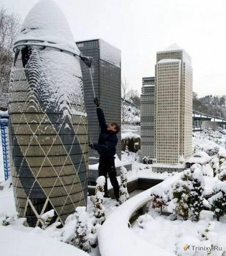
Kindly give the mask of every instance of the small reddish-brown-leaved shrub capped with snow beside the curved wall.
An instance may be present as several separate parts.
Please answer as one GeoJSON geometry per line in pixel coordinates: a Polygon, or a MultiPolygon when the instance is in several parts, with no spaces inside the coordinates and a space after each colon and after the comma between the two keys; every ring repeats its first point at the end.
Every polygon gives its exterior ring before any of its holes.
{"type": "Polygon", "coordinates": [[[151,203],[153,209],[160,208],[160,213],[162,214],[162,209],[167,206],[168,197],[162,187],[156,187],[152,189],[151,196],[154,197],[151,203]]]}

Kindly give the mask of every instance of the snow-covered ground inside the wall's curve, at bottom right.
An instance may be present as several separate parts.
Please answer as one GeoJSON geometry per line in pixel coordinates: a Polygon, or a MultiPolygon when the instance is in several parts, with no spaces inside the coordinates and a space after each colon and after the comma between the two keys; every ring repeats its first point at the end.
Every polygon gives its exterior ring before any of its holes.
{"type": "MultiPolygon", "coordinates": [[[[196,252],[192,250],[193,246],[217,245],[222,247],[222,251],[212,252],[212,256],[221,256],[226,250],[226,218],[221,222],[213,220],[213,213],[210,211],[201,211],[200,221],[192,222],[190,220],[171,221],[169,217],[151,216],[146,214],[142,216],[142,227],[138,225],[138,221],[134,222],[133,230],[144,240],[160,248],[167,249],[169,253],[176,252],[176,255],[197,255],[206,256],[207,252],[196,252]],[[208,240],[202,237],[205,234],[208,240]],[[158,235],[157,235],[158,234],[158,235]],[[187,251],[184,251],[184,245],[190,245],[187,251]]],[[[141,218],[141,217],[140,217],[141,218]]]]}

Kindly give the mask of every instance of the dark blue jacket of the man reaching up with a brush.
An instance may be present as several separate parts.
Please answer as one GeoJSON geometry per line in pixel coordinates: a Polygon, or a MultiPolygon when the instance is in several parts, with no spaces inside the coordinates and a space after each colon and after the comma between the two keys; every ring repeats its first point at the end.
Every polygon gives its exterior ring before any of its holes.
{"type": "Polygon", "coordinates": [[[107,130],[108,125],[106,124],[104,113],[101,108],[97,108],[97,117],[101,128],[101,134],[98,139],[98,144],[94,143],[94,148],[101,156],[113,157],[116,154],[118,138],[115,132],[107,130]]]}

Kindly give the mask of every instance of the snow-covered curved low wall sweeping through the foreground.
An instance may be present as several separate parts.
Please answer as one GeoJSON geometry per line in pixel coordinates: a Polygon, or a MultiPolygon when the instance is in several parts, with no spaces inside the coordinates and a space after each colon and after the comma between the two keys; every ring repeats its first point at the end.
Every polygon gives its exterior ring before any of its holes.
{"type": "MultiPolygon", "coordinates": [[[[152,198],[151,190],[155,187],[167,188],[181,176],[181,173],[161,182],[154,187],[132,197],[118,207],[106,221],[98,232],[98,244],[101,256],[173,256],[174,254],[151,244],[137,236],[129,228],[129,219],[132,214],[148,203],[152,198]]],[[[164,243],[164,241],[163,241],[164,243]]]]}

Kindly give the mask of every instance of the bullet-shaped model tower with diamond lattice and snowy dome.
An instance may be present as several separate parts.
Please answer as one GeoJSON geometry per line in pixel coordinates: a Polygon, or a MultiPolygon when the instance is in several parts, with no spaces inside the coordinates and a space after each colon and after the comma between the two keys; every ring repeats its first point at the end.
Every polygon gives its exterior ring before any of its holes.
{"type": "Polygon", "coordinates": [[[10,78],[11,173],[16,210],[30,226],[54,209],[62,224],[86,205],[87,115],[80,52],[59,7],[41,0],[14,44],[10,78]]]}

